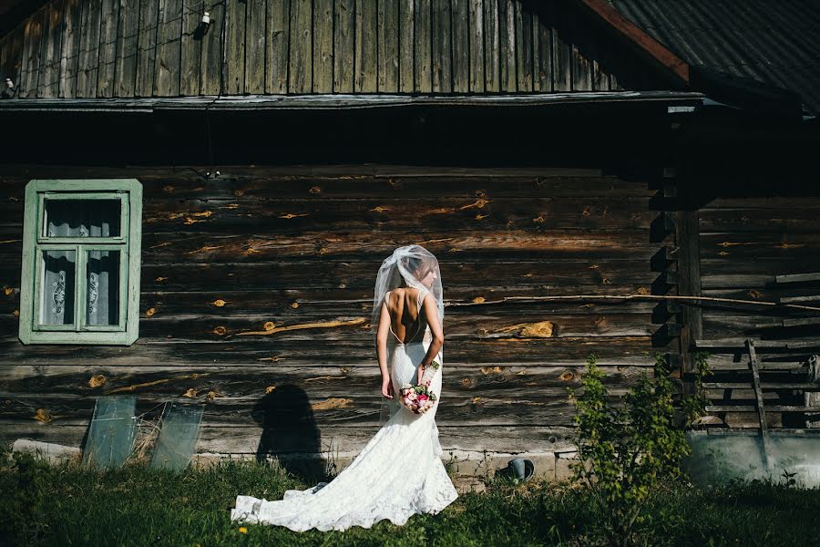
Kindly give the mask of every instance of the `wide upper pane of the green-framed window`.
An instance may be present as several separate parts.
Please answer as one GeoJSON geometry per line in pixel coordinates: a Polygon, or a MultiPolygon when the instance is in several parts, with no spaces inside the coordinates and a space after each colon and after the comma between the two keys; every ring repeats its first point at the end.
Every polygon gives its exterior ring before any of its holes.
{"type": "Polygon", "coordinates": [[[46,200],[46,237],[117,237],[119,200],[46,200]]]}

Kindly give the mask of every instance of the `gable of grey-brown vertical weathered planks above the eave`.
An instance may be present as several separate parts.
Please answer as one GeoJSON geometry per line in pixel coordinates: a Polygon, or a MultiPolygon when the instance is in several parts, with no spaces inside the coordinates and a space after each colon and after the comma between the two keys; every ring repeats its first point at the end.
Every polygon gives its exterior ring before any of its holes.
{"type": "Polygon", "coordinates": [[[561,1],[52,0],[0,38],[20,98],[669,88],[561,1]]]}

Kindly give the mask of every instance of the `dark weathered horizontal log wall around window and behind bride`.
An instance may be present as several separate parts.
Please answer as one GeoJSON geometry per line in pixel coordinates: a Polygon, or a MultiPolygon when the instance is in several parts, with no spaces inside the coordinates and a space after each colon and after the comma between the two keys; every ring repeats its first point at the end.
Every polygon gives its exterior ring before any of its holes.
{"type": "MultiPolygon", "coordinates": [[[[37,169],[31,177],[47,176],[37,169]]],[[[147,416],[168,400],[206,405],[199,452],[253,453],[279,390],[303,393],[302,418],[322,439],[304,447],[282,434],[279,452],[360,449],[380,405],[367,325],[374,274],[405,243],[424,244],[442,265],[436,419],[446,449],[568,449],[567,387],[579,386],[590,353],[617,395],[650,369],[645,352],[667,351],[651,346],[651,303],[516,300],[649,294],[659,244],[646,180],[372,166],[238,167],[218,180],[171,168],[60,172],[143,183],[140,337],[129,347],[20,344],[27,179],[0,178],[0,433],[9,439],[78,446],[95,397],[133,394],[147,416]]]]}

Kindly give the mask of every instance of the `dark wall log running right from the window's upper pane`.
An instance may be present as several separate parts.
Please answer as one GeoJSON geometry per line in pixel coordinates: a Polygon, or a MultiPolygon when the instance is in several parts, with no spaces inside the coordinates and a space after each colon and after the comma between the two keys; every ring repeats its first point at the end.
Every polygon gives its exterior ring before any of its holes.
{"type": "Polygon", "coordinates": [[[294,232],[390,230],[491,232],[520,230],[623,230],[646,234],[651,212],[635,200],[449,199],[420,198],[407,207],[402,199],[280,201],[144,201],[145,232],[237,233],[251,229],[294,232]],[[341,226],[340,226],[341,223],[341,226]]]}

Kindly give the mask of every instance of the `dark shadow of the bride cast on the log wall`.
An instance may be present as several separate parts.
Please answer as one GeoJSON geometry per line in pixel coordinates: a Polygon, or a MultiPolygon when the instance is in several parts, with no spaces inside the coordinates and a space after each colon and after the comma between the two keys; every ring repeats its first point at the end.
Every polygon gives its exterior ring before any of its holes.
{"type": "Polygon", "coordinates": [[[254,405],[251,416],[262,427],[257,461],[272,456],[285,470],[309,483],[325,479],[325,464],[319,457],[322,436],[300,387],[276,387],[254,405]]]}

